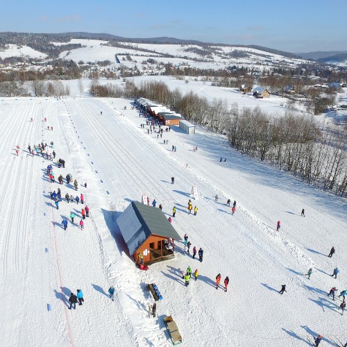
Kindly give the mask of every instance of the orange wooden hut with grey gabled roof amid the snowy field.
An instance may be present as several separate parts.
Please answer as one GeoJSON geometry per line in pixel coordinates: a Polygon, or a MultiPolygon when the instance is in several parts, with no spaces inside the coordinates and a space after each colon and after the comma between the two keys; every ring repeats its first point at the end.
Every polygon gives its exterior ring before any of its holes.
{"type": "Polygon", "coordinates": [[[139,267],[174,257],[174,240],[182,239],[160,208],[139,201],[132,201],[117,223],[139,267]]]}

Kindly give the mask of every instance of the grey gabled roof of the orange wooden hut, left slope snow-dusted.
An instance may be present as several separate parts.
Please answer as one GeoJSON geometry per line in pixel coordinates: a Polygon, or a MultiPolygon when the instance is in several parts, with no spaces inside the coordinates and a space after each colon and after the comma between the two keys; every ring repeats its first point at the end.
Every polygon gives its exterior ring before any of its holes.
{"type": "Polygon", "coordinates": [[[139,201],[132,201],[117,218],[117,223],[130,255],[151,235],[181,239],[160,208],[153,208],[139,201]]]}

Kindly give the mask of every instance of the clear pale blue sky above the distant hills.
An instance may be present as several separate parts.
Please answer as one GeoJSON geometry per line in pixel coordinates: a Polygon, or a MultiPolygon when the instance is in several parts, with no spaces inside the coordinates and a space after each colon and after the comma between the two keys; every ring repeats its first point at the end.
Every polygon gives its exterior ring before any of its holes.
{"type": "Polygon", "coordinates": [[[290,52],[347,51],[347,1],[3,1],[0,31],[85,31],[258,44],[290,52]]]}

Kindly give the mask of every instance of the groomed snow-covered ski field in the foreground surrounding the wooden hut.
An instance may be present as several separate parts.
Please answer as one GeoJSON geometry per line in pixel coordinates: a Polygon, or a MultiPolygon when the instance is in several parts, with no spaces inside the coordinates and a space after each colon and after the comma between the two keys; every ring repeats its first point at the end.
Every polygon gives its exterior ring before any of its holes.
{"type": "Polygon", "coordinates": [[[225,137],[173,127],[164,145],[143,123],[124,99],[0,100],[1,345],[171,346],[163,323],[169,314],[187,346],[310,346],[318,334],[321,346],[345,343],[341,301],[326,294],[334,285],[347,289],[346,201],[240,155],[225,137]],[[78,192],[49,183],[49,162],[28,154],[28,144],[42,141],[53,141],[57,158],[65,159],[65,169],[53,167],[56,178],[70,172],[78,192]],[[192,185],[196,217],[187,214],[192,185]],[[83,192],[91,211],[84,230],[76,224],[81,204],[63,198],[56,210],[49,192],[58,187],[62,196],[83,192]],[[136,268],[116,219],[143,193],[162,203],[167,217],[176,205],[173,226],[203,248],[202,263],[184,255],[179,242],[174,260],[136,268]],[[228,198],[237,201],[234,215],[228,198]],[[64,231],[60,223],[71,212],[75,224],[64,231]],[[187,266],[199,271],[189,287],[180,276],[187,266]],[[215,289],[217,273],[222,282],[229,276],[227,293],[215,289]],[[152,282],[164,297],[155,319],[147,312],[152,282]],[[67,310],[76,289],[85,303],[67,310]]]}

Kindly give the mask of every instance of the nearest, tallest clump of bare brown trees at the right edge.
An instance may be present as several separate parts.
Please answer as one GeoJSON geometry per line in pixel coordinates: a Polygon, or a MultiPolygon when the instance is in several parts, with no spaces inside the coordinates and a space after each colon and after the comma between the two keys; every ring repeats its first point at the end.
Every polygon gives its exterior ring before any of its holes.
{"type": "Polygon", "coordinates": [[[233,107],[228,128],[230,144],[251,157],[266,160],[305,182],[347,193],[347,124],[319,128],[313,117],[271,118],[259,108],[233,107]]]}

